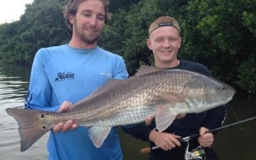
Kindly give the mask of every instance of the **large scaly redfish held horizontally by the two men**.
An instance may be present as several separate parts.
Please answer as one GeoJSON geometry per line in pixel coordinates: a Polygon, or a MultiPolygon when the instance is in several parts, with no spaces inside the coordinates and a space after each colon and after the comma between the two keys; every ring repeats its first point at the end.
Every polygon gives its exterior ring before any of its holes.
{"type": "Polygon", "coordinates": [[[187,70],[141,67],[128,80],[111,80],[68,111],[52,113],[8,108],[19,124],[20,150],[28,149],[60,122],[74,120],[90,127],[89,136],[100,147],[111,127],[136,124],[156,116],[164,131],[180,113],[200,113],[226,104],[235,93],[228,84],[187,70]]]}

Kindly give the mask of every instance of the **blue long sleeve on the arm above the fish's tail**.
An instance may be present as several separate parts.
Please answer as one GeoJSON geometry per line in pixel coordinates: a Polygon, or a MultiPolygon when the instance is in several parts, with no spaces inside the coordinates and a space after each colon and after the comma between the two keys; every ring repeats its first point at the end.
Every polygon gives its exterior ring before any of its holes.
{"type": "Polygon", "coordinates": [[[60,106],[51,106],[52,86],[45,70],[43,53],[39,50],[33,61],[25,108],[56,112],[60,106]]]}

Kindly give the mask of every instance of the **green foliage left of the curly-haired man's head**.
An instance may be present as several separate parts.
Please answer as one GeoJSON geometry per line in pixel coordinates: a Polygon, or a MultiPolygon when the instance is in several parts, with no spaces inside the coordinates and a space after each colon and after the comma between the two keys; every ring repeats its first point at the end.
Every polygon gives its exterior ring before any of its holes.
{"type": "Polygon", "coordinates": [[[1,25],[0,60],[31,64],[41,47],[60,45],[70,38],[60,0],[35,0],[26,6],[20,20],[1,25]],[[3,38],[2,38],[3,37],[3,38]]]}

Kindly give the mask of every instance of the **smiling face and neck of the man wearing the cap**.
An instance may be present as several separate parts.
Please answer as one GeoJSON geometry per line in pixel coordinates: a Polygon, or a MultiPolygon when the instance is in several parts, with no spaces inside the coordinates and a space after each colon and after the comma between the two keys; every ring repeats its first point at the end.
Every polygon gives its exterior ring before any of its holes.
{"type": "Polygon", "coordinates": [[[147,40],[148,48],[154,54],[157,67],[175,67],[180,44],[179,31],[172,26],[155,29],[147,40]]]}

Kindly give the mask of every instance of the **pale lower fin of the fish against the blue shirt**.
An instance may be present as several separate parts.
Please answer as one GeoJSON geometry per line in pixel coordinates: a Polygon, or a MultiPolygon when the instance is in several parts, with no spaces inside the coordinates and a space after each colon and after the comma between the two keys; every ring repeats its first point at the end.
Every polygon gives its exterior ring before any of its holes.
{"type": "Polygon", "coordinates": [[[110,131],[111,127],[91,127],[89,129],[89,136],[95,147],[99,148],[102,145],[110,131]]]}

